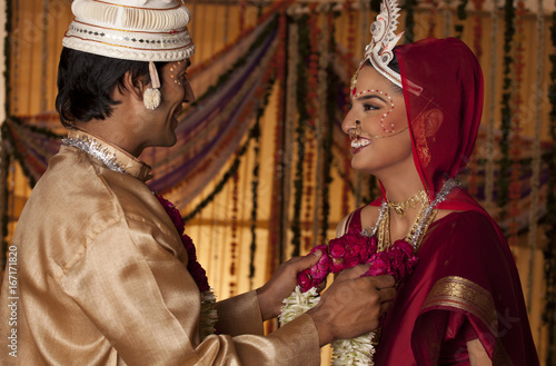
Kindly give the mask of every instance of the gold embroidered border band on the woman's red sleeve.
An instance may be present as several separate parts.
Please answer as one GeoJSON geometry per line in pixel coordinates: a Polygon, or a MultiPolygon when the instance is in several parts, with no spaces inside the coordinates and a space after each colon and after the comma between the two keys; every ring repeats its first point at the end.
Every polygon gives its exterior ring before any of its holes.
{"type": "Polygon", "coordinates": [[[496,336],[498,319],[493,296],[479,285],[458,276],[444,277],[430,289],[421,310],[433,306],[449,306],[469,311],[496,336]]]}

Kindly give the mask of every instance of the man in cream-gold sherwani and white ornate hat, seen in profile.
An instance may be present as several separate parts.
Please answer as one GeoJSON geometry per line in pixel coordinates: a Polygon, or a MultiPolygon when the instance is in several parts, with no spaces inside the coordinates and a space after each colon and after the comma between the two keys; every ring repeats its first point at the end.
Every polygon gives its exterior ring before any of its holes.
{"type": "Polygon", "coordinates": [[[279,314],[317,253],[218,303],[217,334],[201,337],[206,278],[188,270],[195,251],[138,159],[146,147],[176,142],[177,116],[195,99],[191,14],[177,0],[75,0],[72,11],[56,100],[69,133],[10,247],[17,260],[14,275],[3,276],[1,364],[319,365],[320,346],[375,329],[394,279],[359,278],[367,268],[356,267],[317,307],[264,336],[262,322],[279,314]]]}

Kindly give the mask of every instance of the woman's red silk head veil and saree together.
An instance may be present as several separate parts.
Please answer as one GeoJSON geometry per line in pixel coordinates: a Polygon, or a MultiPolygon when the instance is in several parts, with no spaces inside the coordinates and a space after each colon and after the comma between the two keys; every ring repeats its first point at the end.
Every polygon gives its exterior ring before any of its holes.
{"type": "MultiPolygon", "coordinates": [[[[415,166],[433,200],[471,156],[483,111],[483,73],[469,48],[455,38],[425,39],[394,51],[415,166]],[[408,91],[408,86],[415,85],[423,88],[419,95],[408,91]],[[421,116],[431,108],[439,109],[444,118],[439,128],[428,133],[421,116]]],[[[384,187],[383,197],[371,205],[379,206],[383,199],[384,187]]],[[[430,235],[430,228],[425,236],[416,273],[400,287],[384,323],[377,365],[436,365],[454,329],[461,330],[453,335],[460,337],[460,344],[469,336],[478,337],[495,365],[538,365],[519,276],[498,225],[459,188],[437,208],[466,215],[457,220],[453,217],[451,226],[436,225],[435,233],[439,233],[430,235]],[[455,288],[466,296],[479,291],[489,300],[477,307],[464,306],[455,288]],[[408,314],[414,316],[407,318],[408,314]],[[400,336],[405,333],[410,337],[400,336]]]]}

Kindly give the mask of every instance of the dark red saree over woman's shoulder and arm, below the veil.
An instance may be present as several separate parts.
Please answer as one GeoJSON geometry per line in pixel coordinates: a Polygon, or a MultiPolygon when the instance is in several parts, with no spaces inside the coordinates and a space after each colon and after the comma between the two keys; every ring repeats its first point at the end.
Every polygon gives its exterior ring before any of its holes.
{"type": "MultiPolygon", "coordinates": [[[[359,209],[348,231],[360,230],[359,209]]],[[[484,215],[435,221],[417,255],[383,324],[376,365],[469,365],[466,343],[477,337],[494,365],[538,365],[515,266],[484,215]]]]}

